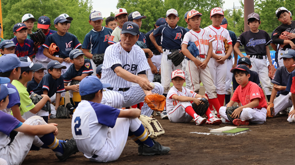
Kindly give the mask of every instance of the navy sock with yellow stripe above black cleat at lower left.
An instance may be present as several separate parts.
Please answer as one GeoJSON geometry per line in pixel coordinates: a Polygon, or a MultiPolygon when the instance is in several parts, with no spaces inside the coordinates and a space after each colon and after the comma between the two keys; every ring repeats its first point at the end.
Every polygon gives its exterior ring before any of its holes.
{"type": "Polygon", "coordinates": [[[53,135],[53,133],[44,135],[40,138],[40,140],[57,154],[63,154],[62,145],[59,140],[53,135]]]}

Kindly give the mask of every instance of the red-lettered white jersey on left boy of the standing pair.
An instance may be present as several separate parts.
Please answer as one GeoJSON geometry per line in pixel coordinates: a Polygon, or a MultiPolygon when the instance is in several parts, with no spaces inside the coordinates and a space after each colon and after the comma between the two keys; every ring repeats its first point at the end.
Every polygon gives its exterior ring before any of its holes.
{"type": "MultiPolygon", "coordinates": [[[[194,42],[202,55],[208,54],[209,42],[214,41],[213,36],[209,37],[206,30],[202,29],[198,32],[190,30],[185,33],[182,44],[188,45],[188,42],[194,42]]],[[[182,45],[181,44],[181,45],[182,45]]]]}

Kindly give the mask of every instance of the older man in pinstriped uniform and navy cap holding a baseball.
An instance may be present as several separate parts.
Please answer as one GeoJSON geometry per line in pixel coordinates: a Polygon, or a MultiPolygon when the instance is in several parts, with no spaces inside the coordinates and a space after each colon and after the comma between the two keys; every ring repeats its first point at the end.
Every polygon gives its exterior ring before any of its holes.
{"type": "MultiPolygon", "coordinates": [[[[160,83],[149,84],[146,71],[149,70],[145,52],[137,45],[139,27],[133,22],[123,24],[120,42],[107,47],[101,72],[101,82],[111,84],[105,88],[101,103],[115,108],[129,107],[143,102],[146,95],[163,94],[160,83]]],[[[152,110],[147,104],[142,114],[150,116],[152,110]]]]}

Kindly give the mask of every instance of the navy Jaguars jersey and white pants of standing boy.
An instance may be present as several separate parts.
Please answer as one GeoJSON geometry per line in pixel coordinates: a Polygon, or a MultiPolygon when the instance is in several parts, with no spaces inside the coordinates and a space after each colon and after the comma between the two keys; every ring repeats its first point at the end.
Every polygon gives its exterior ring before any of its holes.
{"type": "MultiPolygon", "coordinates": [[[[266,95],[271,94],[272,85],[268,78],[268,68],[266,66],[266,46],[271,43],[269,35],[264,30],[260,30],[257,33],[251,32],[251,30],[243,32],[237,39],[240,45],[245,47],[245,52],[250,55],[251,71],[258,73],[259,79],[263,86],[266,95]]],[[[270,61],[271,62],[271,61],[270,61]]]]}

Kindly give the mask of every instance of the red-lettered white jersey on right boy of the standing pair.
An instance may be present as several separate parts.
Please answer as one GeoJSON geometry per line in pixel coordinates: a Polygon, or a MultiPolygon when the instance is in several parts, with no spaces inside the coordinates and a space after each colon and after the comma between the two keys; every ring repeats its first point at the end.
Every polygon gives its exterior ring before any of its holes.
{"type": "Polygon", "coordinates": [[[222,51],[222,54],[225,54],[225,48],[224,48],[224,39],[228,40],[228,43],[231,44],[232,39],[230,37],[229,31],[227,29],[223,28],[220,26],[220,28],[216,28],[212,25],[209,25],[204,28],[209,37],[214,37],[215,40],[212,42],[213,46],[213,52],[217,51],[222,51]]]}

